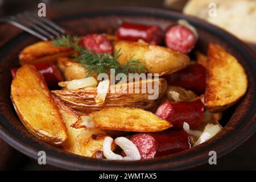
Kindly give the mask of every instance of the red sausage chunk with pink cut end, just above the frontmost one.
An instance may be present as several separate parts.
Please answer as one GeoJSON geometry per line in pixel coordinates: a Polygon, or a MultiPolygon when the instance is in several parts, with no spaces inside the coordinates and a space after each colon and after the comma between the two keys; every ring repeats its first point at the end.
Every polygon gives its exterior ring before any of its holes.
{"type": "Polygon", "coordinates": [[[193,102],[165,101],[158,107],[155,114],[159,118],[170,121],[174,129],[183,129],[184,122],[187,122],[191,129],[199,129],[203,121],[204,104],[201,100],[193,102]]]}

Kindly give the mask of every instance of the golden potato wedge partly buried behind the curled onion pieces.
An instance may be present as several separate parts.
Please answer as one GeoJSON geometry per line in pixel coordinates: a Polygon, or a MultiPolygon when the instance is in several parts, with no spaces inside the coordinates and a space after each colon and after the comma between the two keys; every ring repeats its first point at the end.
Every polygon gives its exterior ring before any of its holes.
{"type": "Polygon", "coordinates": [[[106,132],[104,130],[75,129],[71,127],[73,123],[81,119],[80,115],[57,97],[52,96],[52,98],[63,117],[68,131],[68,140],[64,144],[63,150],[86,157],[95,156],[94,153],[102,151],[104,139],[108,136],[106,132]]]}

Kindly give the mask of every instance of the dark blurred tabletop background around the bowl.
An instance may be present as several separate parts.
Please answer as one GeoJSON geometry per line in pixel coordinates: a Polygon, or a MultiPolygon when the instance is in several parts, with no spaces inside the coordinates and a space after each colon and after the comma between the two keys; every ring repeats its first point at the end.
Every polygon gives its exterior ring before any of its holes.
{"type": "MultiPolygon", "coordinates": [[[[168,1],[168,0],[167,0],[168,1]]],[[[44,0],[44,1],[18,1],[18,0],[0,0],[0,18],[2,16],[18,13],[23,10],[34,10],[39,2],[47,4],[47,16],[55,18],[63,14],[72,14],[90,9],[93,7],[115,7],[115,6],[147,6],[181,11],[186,0],[173,0],[171,5],[162,0],[44,0]]],[[[170,2],[170,1],[168,1],[170,2]]],[[[20,34],[18,28],[9,24],[0,23],[0,48],[15,35],[20,34]],[[8,34],[6,34],[8,32],[8,34]]],[[[251,45],[249,45],[251,46],[251,45]]],[[[251,46],[256,52],[256,46],[251,46]]],[[[195,170],[256,170],[256,134],[243,143],[236,150],[222,156],[217,160],[217,165],[204,164],[195,170]]],[[[21,169],[21,170],[58,170],[59,168],[42,165],[35,160],[21,154],[9,144],[0,139],[0,169],[21,169]]]]}

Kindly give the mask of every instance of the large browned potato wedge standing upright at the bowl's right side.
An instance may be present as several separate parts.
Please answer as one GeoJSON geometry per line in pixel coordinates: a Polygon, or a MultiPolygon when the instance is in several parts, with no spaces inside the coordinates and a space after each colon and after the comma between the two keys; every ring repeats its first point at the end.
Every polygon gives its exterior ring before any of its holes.
{"type": "Polygon", "coordinates": [[[216,44],[209,45],[207,59],[205,106],[220,112],[245,94],[247,76],[237,59],[216,44]]]}

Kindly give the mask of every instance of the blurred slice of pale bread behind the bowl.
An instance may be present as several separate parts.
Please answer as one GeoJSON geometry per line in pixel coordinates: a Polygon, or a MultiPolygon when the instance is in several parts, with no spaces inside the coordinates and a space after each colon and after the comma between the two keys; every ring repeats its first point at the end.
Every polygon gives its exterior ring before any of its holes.
{"type": "Polygon", "coordinates": [[[203,18],[248,43],[256,44],[255,0],[190,0],[183,13],[203,18]],[[216,16],[209,16],[213,8],[210,3],[216,3],[216,16]]]}

